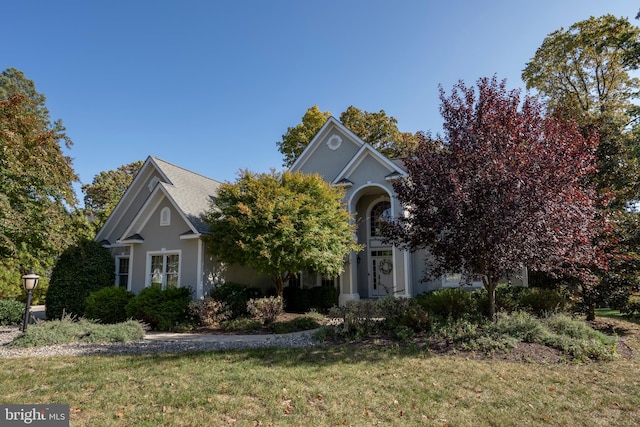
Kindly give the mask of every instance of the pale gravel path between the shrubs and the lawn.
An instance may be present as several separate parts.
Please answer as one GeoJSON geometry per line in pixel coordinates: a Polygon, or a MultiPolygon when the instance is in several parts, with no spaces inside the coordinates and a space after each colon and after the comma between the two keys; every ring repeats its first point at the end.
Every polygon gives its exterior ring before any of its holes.
{"type": "Polygon", "coordinates": [[[19,327],[0,327],[0,358],[126,355],[211,351],[259,347],[307,347],[319,344],[314,331],[282,335],[207,335],[149,333],[142,341],[109,344],[61,344],[32,348],[16,348],[8,344],[18,337],[19,327]]]}

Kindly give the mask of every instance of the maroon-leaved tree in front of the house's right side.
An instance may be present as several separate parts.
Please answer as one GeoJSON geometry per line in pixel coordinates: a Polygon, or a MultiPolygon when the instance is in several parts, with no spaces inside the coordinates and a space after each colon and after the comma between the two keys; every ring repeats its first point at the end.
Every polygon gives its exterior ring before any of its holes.
{"type": "Polygon", "coordinates": [[[478,80],[477,92],[459,82],[446,97],[441,87],[440,100],[444,138],[422,135],[406,158],[408,176],[394,187],[407,212],[389,238],[429,250],[426,276],[480,276],[491,316],[498,281],[525,266],[594,284],[591,268],[606,267],[594,243],[606,221],[585,185],[597,138],[495,76],[478,80]]]}

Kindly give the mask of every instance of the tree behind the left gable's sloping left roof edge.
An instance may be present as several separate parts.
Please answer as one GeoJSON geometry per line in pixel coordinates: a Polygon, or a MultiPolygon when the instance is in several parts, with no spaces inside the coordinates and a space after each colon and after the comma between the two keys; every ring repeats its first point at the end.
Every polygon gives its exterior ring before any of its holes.
{"type": "Polygon", "coordinates": [[[92,226],[95,230],[104,225],[143,163],[139,160],[115,170],[102,171],[93,177],[91,184],[82,186],[84,208],[94,218],[92,226]]]}

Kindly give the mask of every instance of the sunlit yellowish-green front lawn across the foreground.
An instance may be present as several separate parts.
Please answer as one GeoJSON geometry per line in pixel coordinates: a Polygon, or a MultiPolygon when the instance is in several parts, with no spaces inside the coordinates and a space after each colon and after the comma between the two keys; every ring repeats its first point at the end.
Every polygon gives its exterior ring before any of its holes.
{"type": "Polygon", "coordinates": [[[72,426],[640,425],[631,358],[512,363],[397,347],[0,359],[2,403],[66,403],[72,426]]]}

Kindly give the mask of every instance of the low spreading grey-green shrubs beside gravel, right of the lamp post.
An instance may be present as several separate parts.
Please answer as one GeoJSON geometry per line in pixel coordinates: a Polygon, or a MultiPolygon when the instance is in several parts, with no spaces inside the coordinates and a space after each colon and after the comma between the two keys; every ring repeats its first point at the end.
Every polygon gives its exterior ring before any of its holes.
{"type": "Polygon", "coordinates": [[[144,338],[140,322],[128,320],[113,325],[101,325],[87,319],[64,316],[58,320],[37,322],[11,343],[16,347],[38,347],[69,343],[115,343],[139,341],[144,338]]]}

